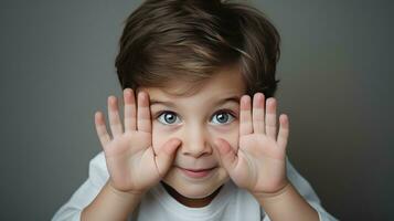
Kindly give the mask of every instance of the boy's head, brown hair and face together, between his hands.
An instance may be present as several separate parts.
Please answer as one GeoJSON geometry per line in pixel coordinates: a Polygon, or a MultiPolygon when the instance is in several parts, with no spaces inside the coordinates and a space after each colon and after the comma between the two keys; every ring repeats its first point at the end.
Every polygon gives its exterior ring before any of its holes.
{"type": "Polygon", "coordinates": [[[172,137],[182,140],[163,179],[179,198],[210,200],[228,179],[213,156],[214,140],[237,148],[239,98],[274,96],[278,57],[276,29],[244,4],[148,0],[127,19],[118,77],[123,88],[149,94],[156,152],[172,137]]]}

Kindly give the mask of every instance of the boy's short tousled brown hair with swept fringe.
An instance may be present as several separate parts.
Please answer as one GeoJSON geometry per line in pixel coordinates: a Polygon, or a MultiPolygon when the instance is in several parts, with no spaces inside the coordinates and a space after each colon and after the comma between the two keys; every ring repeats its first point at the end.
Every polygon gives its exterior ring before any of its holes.
{"type": "Polygon", "coordinates": [[[125,21],[116,69],[123,88],[201,83],[237,65],[247,94],[274,96],[280,36],[262,11],[225,0],[146,0],[125,21]]]}

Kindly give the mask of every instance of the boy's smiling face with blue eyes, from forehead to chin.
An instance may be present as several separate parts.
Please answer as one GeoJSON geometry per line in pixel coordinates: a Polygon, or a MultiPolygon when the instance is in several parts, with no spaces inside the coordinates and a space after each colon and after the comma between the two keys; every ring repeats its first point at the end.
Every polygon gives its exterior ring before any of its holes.
{"type": "MultiPolygon", "coordinates": [[[[166,90],[184,83],[172,85],[166,90]]],[[[234,149],[238,144],[239,98],[246,92],[238,69],[221,70],[189,96],[170,95],[158,87],[141,90],[150,96],[155,151],[170,138],[182,140],[163,181],[187,198],[212,194],[228,179],[213,154],[214,140],[223,138],[234,149]]]]}

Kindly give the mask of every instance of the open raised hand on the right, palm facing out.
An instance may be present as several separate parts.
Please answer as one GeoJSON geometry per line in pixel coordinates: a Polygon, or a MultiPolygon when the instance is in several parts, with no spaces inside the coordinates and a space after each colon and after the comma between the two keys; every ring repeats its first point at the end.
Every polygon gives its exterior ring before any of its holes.
{"type": "Polygon", "coordinates": [[[289,120],[285,114],[279,117],[277,136],[276,99],[266,102],[265,105],[264,94],[256,93],[252,109],[251,97],[244,95],[241,98],[238,148],[221,138],[214,148],[232,180],[258,196],[277,193],[289,183],[286,177],[289,120]]]}

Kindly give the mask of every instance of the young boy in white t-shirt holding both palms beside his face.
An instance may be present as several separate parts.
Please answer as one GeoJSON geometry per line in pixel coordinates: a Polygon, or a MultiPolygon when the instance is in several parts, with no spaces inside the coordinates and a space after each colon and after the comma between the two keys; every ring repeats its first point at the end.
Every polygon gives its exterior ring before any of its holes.
{"type": "Polygon", "coordinates": [[[97,112],[104,151],[53,220],[336,220],[286,158],[278,57],[277,30],[252,7],[145,1],[116,59],[124,120],[109,96],[113,136],[97,112]]]}

